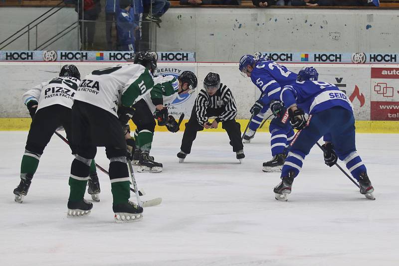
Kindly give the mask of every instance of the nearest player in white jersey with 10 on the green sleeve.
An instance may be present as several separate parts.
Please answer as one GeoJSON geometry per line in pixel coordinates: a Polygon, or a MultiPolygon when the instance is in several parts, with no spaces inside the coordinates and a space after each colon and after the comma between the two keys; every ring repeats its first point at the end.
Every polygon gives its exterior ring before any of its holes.
{"type": "Polygon", "coordinates": [[[154,86],[149,70],[154,61],[155,57],[149,55],[146,67],[140,64],[118,65],[95,70],[82,80],[72,106],[72,131],[77,154],[69,177],[67,216],[81,217],[90,213],[93,205],[83,198],[84,189],[97,147],[105,146],[110,160],[115,221],[133,222],[143,217],[143,208],[129,201],[130,175],[124,126],[134,114],[130,107],[154,86]]]}

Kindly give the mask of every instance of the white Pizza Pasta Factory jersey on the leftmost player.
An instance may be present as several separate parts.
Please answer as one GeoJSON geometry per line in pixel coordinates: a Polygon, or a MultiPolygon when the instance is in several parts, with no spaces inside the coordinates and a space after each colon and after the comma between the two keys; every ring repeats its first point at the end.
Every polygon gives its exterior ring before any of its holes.
{"type": "Polygon", "coordinates": [[[38,103],[37,110],[51,105],[72,108],[73,97],[80,80],[72,77],[56,77],[40,83],[22,95],[25,105],[30,101],[38,103]]]}

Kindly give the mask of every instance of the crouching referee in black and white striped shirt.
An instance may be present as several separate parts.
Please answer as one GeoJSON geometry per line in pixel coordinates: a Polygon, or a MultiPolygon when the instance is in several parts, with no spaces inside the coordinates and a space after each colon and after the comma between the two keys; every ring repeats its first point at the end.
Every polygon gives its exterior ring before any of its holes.
{"type": "Polygon", "coordinates": [[[196,139],[197,132],[205,129],[217,129],[221,122],[230,138],[230,145],[236,153],[236,158],[241,160],[245,157],[241,142],[240,124],[235,121],[237,107],[233,94],[226,85],[220,83],[219,74],[209,72],[204,81],[203,89],[196,99],[191,118],[186,123],[183,134],[181,151],[177,154],[179,162],[183,162],[187,154],[191,152],[191,146],[196,139]],[[209,117],[216,117],[212,123],[208,122],[209,117]]]}

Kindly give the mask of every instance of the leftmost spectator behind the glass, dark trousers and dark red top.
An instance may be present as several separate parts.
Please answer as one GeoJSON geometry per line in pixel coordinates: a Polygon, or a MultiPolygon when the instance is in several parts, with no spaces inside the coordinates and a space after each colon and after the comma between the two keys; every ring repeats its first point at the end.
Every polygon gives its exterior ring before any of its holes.
{"type": "Polygon", "coordinates": [[[75,0],[75,11],[78,12],[80,31],[80,50],[94,49],[94,33],[96,31],[96,23],[98,14],[101,12],[100,0],[75,0]]]}

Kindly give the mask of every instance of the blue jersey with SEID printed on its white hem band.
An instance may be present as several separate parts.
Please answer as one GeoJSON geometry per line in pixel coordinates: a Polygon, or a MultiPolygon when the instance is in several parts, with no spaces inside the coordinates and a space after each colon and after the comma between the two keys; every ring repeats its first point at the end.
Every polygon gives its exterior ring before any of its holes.
{"type": "Polygon", "coordinates": [[[323,81],[297,81],[285,86],[280,100],[286,108],[297,104],[305,113],[319,113],[334,106],[353,112],[352,103],[335,85],[323,81]]]}

